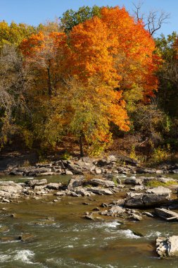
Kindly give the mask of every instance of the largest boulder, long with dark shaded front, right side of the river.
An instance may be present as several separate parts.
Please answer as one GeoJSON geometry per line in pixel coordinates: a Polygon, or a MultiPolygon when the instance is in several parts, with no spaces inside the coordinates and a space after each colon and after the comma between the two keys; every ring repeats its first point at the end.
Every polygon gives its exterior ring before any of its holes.
{"type": "Polygon", "coordinates": [[[170,200],[170,193],[127,193],[125,207],[157,207],[170,200]]]}

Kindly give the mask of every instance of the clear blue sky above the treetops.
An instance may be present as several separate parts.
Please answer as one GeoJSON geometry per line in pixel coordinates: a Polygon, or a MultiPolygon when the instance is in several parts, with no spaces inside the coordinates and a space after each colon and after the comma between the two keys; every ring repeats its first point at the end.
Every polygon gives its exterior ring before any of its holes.
{"type": "MultiPolygon", "coordinates": [[[[62,16],[63,12],[72,8],[77,10],[80,6],[125,6],[132,13],[132,2],[137,0],[0,0],[0,20],[8,23],[27,23],[38,25],[46,20],[54,20],[62,16]]],[[[173,31],[178,33],[178,1],[177,0],[144,0],[144,13],[150,10],[165,11],[170,13],[169,23],[163,25],[160,34],[169,35],[173,31]]]]}

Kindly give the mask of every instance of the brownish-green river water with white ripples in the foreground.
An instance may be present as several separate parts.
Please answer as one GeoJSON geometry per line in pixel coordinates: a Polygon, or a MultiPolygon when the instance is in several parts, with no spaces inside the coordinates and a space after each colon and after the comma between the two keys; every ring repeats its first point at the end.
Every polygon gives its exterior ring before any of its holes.
{"type": "MultiPolygon", "coordinates": [[[[67,176],[48,179],[68,181],[67,176]]],[[[89,221],[82,217],[102,202],[123,196],[124,193],[109,197],[61,197],[58,202],[51,202],[54,197],[42,197],[0,203],[0,267],[177,268],[177,258],[160,260],[155,254],[156,236],[178,235],[177,222],[148,218],[120,224],[117,218],[89,221]],[[26,242],[18,240],[22,234],[29,236],[26,242]]]]}

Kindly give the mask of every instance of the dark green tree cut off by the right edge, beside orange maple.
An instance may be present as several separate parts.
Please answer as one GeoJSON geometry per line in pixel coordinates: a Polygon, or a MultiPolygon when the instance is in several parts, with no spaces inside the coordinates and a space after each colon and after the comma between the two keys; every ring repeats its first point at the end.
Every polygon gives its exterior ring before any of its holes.
{"type": "Polygon", "coordinates": [[[156,39],[157,49],[163,58],[163,64],[158,71],[158,104],[173,117],[178,116],[178,60],[174,47],[176,39],[176,32],[172,32],[167,38],[161,35],[156,39]]]}

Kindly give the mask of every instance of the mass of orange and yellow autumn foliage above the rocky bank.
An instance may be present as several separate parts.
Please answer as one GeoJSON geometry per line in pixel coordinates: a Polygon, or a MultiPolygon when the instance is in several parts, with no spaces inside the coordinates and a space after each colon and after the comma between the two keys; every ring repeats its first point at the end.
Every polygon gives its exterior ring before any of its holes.
{"type": "Polygon", "coordinates": [[[110,123],[129,130],[129,99],[142,102],[157,90],[151,35],[125,8],[99,12],[67,34],[38,32],[19,46],[32,76],[32,131],[49,145],[68,133],[96,152],[111,140],[110,123]]]}

